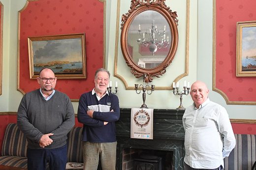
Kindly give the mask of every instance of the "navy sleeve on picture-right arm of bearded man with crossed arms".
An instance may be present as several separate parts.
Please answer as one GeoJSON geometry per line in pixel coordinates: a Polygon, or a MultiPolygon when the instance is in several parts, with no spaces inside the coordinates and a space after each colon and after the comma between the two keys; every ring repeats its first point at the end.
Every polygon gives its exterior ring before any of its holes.
{"type": "Polygon", "coordinates": [[[113,122],[118,121],[120,117],[119,100],[116,95],[111,95],[110,112],[94,112],[93,117],[97,120],[113,122]],[[113,112],[111,112],[113,110],[113,112]]]}

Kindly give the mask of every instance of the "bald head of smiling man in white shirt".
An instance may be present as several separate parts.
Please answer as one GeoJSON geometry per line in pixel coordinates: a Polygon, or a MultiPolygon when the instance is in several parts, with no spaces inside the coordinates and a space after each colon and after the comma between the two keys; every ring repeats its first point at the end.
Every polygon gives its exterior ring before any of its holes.
{"type": "Polygon", "coordinates": [[[207,100],[208,94],[209,90],[204,82],[195,81],[192,84],[190,95],[196,108],[199,108],[199,106],[207,100]]]}

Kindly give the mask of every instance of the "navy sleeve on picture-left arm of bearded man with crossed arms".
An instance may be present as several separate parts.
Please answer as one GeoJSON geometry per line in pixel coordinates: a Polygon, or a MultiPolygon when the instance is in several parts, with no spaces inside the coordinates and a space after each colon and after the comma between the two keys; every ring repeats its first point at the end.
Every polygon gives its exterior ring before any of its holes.
{"type": "Polygon", "coordinates": [[[86,95],[83,94],[79,99],[77,120],[80,123],[83,123],[88,126],[93,126],[93,127],[103,126],[104,121],[96,120],[87,115],[87,107],[88,107],[87,98],[86,98],[86,95]]]}

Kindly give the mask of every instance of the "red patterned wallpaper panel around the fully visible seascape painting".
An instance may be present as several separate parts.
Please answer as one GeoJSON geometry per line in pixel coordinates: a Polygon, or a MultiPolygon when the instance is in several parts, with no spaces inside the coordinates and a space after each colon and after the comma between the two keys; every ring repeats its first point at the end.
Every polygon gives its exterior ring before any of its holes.
{"type": "Polygon", "coordinates": [[[94,73],[104,62],[103,0],[29,0],[19,11],[19,81],[22,92],[38,89],[30,79],[28,37],[85,33],[87,79],[58,79],[56,89],[71,99],[91,91],[94,73]]]}

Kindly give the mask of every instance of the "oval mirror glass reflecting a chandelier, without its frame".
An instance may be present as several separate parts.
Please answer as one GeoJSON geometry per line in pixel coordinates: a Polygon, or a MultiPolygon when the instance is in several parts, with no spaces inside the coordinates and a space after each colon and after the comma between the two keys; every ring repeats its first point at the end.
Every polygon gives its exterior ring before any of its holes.
{"type": "Polygon", "coordinates": [[[158,67],[171,48],[171,29],[162,14],[155,10],[139,13],[128,28],[128,53],[137,66],[158,67]]]}

